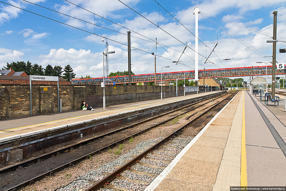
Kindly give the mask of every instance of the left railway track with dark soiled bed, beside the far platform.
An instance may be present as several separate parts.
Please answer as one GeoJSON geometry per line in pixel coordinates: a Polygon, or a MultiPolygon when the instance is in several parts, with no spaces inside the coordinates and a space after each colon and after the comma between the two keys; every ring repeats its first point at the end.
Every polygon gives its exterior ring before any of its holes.
{"type": "MultiPolygon", "coordinates": [[[[234,94],[234,93],[233,93],[234,94]]],[[[233,94],[230,94],[230,96],[232,96],[233,94]]],[[[118,129],[118,130],[115,130],[115,131],[112,131],[112,132],[109,132],[109,133],[106,133],[106,134],[104,134],[104,135],[100,135],[100,136],[98,136],[98,137],[93,137],[93,138],[91,138],[91,139],[88,139],[88,140],[86,140],[86,141],[82,141],[82,142],[80,142],[80,143],[77,143],[77,144],[74,144],[74,145],[70,145],[70,146],[68,146],[68,147],[65,147],[65,148],[63,148],[63,149],[60,149],[60,150],[57,150],[57,151],[54,151],[54,152],[51,152],[51,153],[48,153],[48,154],[46,154],[46,155],[42,155],[42,156],[40,156],[40,157],[36,157],[36,158],[34,158],[34,159],[31,159],[31,160],[29,160],[29,161],[26,161],[26,162],[23,162],[23,163],[20,163],[20,164],[17,164],[17,165],[14,165],[14,166],[11,166],[11,167],[9,167],[9,168],[5,168],[5,169],[2,169],[2,170],[0,170],[0,177],[1,177],[1,179],[2,180],[0,180],[1,182],[2,182],[2,184],[0,184],[0,188],[2,187],[2,188],[4,188],[4,189],[2,189],[1,188],[1,190],[18,190],[19,188],[22,188],[22,187],[24,187],[24,186],[27,186],[27,185],[29,185],[29,184],[33,184],[34,182],[36,182],[36,181],[38,181],[38,180],[41,180],[42,178],[44,178],[44,177],[46,177],[46,176],[48,176],[48,175],[53,175],[55,172],[58,172],[58,171],[60,171],[60,170],[62,170],[62,169],[64,169],[64,168],[67,168],[67,167],[70,167],[70,166],[74,166],[74,164],[76,164],[76,163],[78,163],[78,162],[80,162],[80,161],[82,161],[82,160],[85,160],[85,159],[87,159],[87,158],[91,158],[91,156],[93,156],[93,155],[95,155],[95,154],[97,154],[97,153],[100,153],[101,151],[104,151],[104,150],[106,150],[106,149],[111,149],[111,148],[113,148],[113,147],[116,147],[117,145],[119,145],[119,144],[123,144],[124,143],[124,141],[128,141],[128,139],[130,139],[130,138],[133,138],[133,137],[135,137],[135,136],[138,136],[138,135],[140,135],[140,134],[142,134],[142,133],[144,133],[144,132],[146,132],[146,131],[148,131],[148,130],[150,130],[150,129],[152,129],[152,128],[155,128],[155,127],[158,127],[159,125],[162,125],[162,124],[164,124],[164,123],[167,123],[168,121],[171,121],[171,120],[173,120],[173,119],[176,119],[176,118],[178,118],[180,115],[184,115],[184,114],[186,114],[186,113],[189,113],[189,112],[191,112],[191,111],[193,111],[193,113],[191,114],[191,115],[189,115],[189,117],[192,117],[192,116],[194,116],[195,114],[197,114],[197,115],[202,115],[202,114],[198,114],[198,113],[200,113],[200,112],[203,112],[203,113],[205,113],[203,110],[205,110],[205,109],[207,109],[207,107],[206,108],[204,108],[204,109],[201,109],[201,107],[202,106],[204,106],[204,105],[206,105],[206,104],[209,104],[209,105],[211,105],[211,107],[215,107],[218,103],[221,103],[222,101],[217,101],[217,99],[222,99],[221,97],[229,97],[229,95],[228,94],[224,94],[224,95],[221,95],[221,96],[217,96],[217,97],[215,97],[215,98],[210,98],[210,99],[206,99],[206,100],[201,100],[201,101],[198,101],[198,102],[196,102],[196,103],[192,103],[192,104],[190,104],[190,105],[188,105],[188,106],[185,106],[185,107],[182,107],[182,108],[179,108],[179,109],[176,109],[176,110],[174,110],[174,111],[170,111],[170,112],[167,112],[167,113],[164,113],[164,114],[161,114],[161,115],[158,115],[158,116],[156,116],[156,117],[152,117],[152,118],[150,118],[150,119],[146,119],[146,120],[143,120],[143,121],[140,121],[140,122],[138,122],[138,123],[135,123],[135,124],[132,124],[132,125],[128,125],[128,126],[126,126],[126,127],[123,127],[123,128],[121,128],[121,129],[118,129]],[[212,103],[210,103],[210,102],[212,102],[212,103]],[[182,111],[182,110],[184,110],[184,111],[182,111]],[[144,128],[143,130],[141,130],[141,131],[136,131],[135,133],[134,132],[132,132],[133,134],[129,134],[129,136],[126,136],[126,137],[124,137],[123,139],[121,139],[122,137],[120,137],[120,136],[122,136],[122,135],[118,135],[118,140],[116,140],[115,142],[113,142],[113,143],[111,143],[110,144],[110,142],[108,142],[108,141],[104,141],[104,138],[106,138],[106,137],[109,137],[109,136],[111,136],[111,135],[114,135],[114,134],[118,134],[119,132],[123,132],[122,134],[126,134],[126,132],[127,131],[131,131],[132,129],[134,129],[135,127],[137,127],[137,126],[140,126],[140,125],[142,125],[142,124],[144,124],[144,123],[150,123],[150,121],[152,122],[152,120],[154,121],[154,120],[158,120],[158,118],[162,118],[163,116],[166,116],[166,115],[170,115],[170,116],[172,116],[172,117],[169,117],[167,120],[164,120],[164,121],[162,121],[162,122],[160,122],[160,123],[156,123],[155,125],[149,125],[149,127],[148,128],[144,128]],[[132,128],[132,129],[131,129],[132,128]],[[83,154],[83,156],[81,156],[80,158],[77,158],[76,160],[72,160],[72,161],[69,161],[69,162],[67,162],[67,163],[65,163],[65,164],[62,164],[62,165],[59,165],[57,168],[51,168],[50,170],[47,170],[47,172],[44,172],[44,173],[40,173],[38,176],[35,176],[35,177],[33,177],[33,178],[30,178],[30,179],[28,179],[27,180],[27,177],[26,177],[26,180],[25,181],[23,181],[23,182],[21,182],[20,184],[17,184],[17,185],[15,185],[16,184],[16,182],[14,183],[14,185],[12,186],[11,185],[11,187],[10,188],[8,188],[7,189],[7,186],[5,187],[5,186],[3,186],[3,183],[4,183],[4,185],[5,185],[5,178],[6,178],[6,180],[9,180],[9,179],[7,179],[7,178],[9,178],[9,176],[7,176],[8,174],[14,174],[14,176],[15,176],[15,174],[21,174],[21,172],[23,172],[23,171],[27,171],[28,169],[34,169],[34,167],[33,167],[33,165],[35,165],[35,164],[41,164],[41,163],[45,163],[45,161],[46,160],[51,160],[51,161],[53,161],[53,158],[54,157],[52,157],[52,156],[57,156],[57,155],[61,155],[61,153],[68,153],[69,151],[73,151],[74,149],[76,149],[77,147],[82,147],[83,145],[89,145],[88,143],[93,143],[93,142],[99,142],[100,140],[102,140],[102,141],[104,141],[105,143],[103,144],[104,146],[103,147],[101,147],[100,145],[98,145],[97,147],[99,147],[99,149],[96,149],[95,151],[94,151],[94,149],[91,149],[91,150],[93,150],[93,152],[91,152],[91,153],[88,153],[88,154],[83,154]],[[25,169],[25,168],[27,168],[27,169],[25,169]],[[22,171],[21,171],[22,170],[22,171]],[[17,171],[21,171],[21,172],[17,172],[17,171]],[[6,175],[6,176],[5,176],[6,175]]],[[[227,99],[227,98],[226,98],[227,99]]],[[[223,100],[225,100],[225,99],[223,99],[223,100]]],[[[195,120],[195,119],[193,119],[193,120],[195,120]]],[[[192,121],[193,121],[192,120],[192,121]]],[[[180,130],[182,130],[182,128],[180,128],[180,130]]],[[[179,133],[179,132],[176,132],[176,133],[179,133]]],[[[175,134],[176,134],[175,133],[175,134]]],[[[173,133],[174,134],[174,133],[173,133]]],[[[160,143],[161,144],[161,143],[160,143]]],[[[92,145],[92,144],[90,144],[90,145],[92,145]]],[[[172,148],[170,148],[170,149],[172,149],[172,148]]],[[[82,149],[81,149],[82,150],[82,149]]],[[[89,149],[87,149],[87,150],[89,150],[89,149]]],[[[34,174],[37,174],[37,173],[34,173],[34,174]]],[[[11,179],[12,177],[10,177],[10,179],[11,179]]],[[[23,179],[25,179],[25,178],[23,178],[23,179]]],[[[11,182],[11,181],[10,181],[11,182]]],[[[7,184],[6,184],[7,185],[7,184]]]]}

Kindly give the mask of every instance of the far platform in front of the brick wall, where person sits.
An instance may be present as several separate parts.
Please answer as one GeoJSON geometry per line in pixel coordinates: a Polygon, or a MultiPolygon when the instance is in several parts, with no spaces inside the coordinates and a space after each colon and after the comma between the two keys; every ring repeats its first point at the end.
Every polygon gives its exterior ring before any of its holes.
{"type": "Polygon", "coordinates": [[[163,100],[156,99],[150,101],[141,101],[136,103],[121,104],[103,108],[94,108],[94,111],[70,111],[63,113],[52,113],[47,115],[37,115],[18,119],[7,119],[0,121],[0,143],[8,139],[31,136],[36,133],[47,132],[57,127],[64,128],[69,124],[80,124],[98,118],[107,118],[109,116],[128,113],[131,111],[152,108],[167,103],[175,103],[205,95],[216,94],[219,91],[205,92],[199,94],[190,94],[180,97],[170,97],[163,100]]]}

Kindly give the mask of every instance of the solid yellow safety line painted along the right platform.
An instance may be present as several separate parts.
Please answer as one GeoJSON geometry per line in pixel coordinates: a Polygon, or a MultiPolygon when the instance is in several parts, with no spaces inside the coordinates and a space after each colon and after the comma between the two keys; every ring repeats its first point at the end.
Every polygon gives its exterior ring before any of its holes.
{"type": "Polygon", "coordinates": [[[243,91],[243,108],[242,108],[242,129],[241,129],[241,186],[247,186],[247,169],[246,169],[246,147],[245,147],[245,108],[244,108],[244,91],[243,91]]]}

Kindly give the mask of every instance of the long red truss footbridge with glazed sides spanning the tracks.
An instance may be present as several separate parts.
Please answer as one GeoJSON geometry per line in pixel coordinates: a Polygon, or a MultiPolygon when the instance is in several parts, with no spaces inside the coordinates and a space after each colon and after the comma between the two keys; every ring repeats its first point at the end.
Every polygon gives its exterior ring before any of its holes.
{"type": "MultiPolygon", "coordinates": [[[[276,68],[275,68],[276,69],[276,68]]],[[[239,76],[258,76],[260,75],[272,75],[272,66],[251,66],[251,67],[240,67],[240,68],[222,68],[222,69],[210,69],[210,70],[199,70],[199,78],[224,78],[224,77],[239,77],[239,76]]],[[[182,72],[166,72],[156,73],[156,81],[170,81],[176,79],[194,79],[195,71],[182,71],[182,72]]],[[[285,74],[285,69],[276,70],[276,74],[285,74]]],[[[105,78],[106,84],[128,84],[128,76],[112,76],[105,78]]],[[[154,82],[155,74],[139,74],[131,76],[131,83],[138,82],[154,82]]],[[[85,84],[85,85],[100,85],[103,82],[102,78],[84,78],[74,79],[72,84],[85,84]]]]}

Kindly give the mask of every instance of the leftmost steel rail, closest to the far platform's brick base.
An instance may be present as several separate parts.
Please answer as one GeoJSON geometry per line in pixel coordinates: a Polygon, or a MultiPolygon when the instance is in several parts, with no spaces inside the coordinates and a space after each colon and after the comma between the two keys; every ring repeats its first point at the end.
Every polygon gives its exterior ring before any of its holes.
{"type": "MultiPolygon", "coordinates": [[[[217,96],[221,96],[221,94],[220,94],[220,95],[217,95],[217,96]]],[[[217,96],[214,96],[214,97],[217,97],[217,96]]],[[[192,106],[192,105],[194,105],[194,104],[200,103],[200,102],[202,102],[202,101],[206,101],[206,100],[208,100],[208,99],[210,99],[210,98],[203,99],[203,100],[201,100],[201,101],[197,101],[197,102],[192,103],[192,104],[190,104],[190,105],[186,105],[186,106],[184,106],[184,107],[180,107],[180,108],[175,109],[175,110],[173,110],[173,111],[169,111],[169,112],[167,112],[167,113],[163,113],[163,114],[160,114],[160,115],[157,115],[157,116],[148,118],[148,119],[146,119],[146,120],[143,120],[143,121],[134,123],[134,124],[132,124],[132,125],[128,125],[128,126],[126,126],[126,127],[123,127],[123,128],[120,128],[120,129],[116,129],[116,130],[114,130],[114,131],[110,131],[110,132],[108,132],[108,133],[106,133],[106,134],[99,135],[99,136],[97,136],[97,137],[92,137],[92,138],[90,138],[90,139],[86,139],[86,140],[81,141],[81,142],[79,142],[79,143],[75,143],[75,144],[73,144],[73,145],[69,145],[69,146],[64,147],[64,148],[62,148],[62,149],[58,149],[58,150],[56,150],[56,151],[53,151],[53,152],[50,152],[50,153],[41,155],[41,156],[39,156],[39,157],[35,157],[35,158],[33,158],[33,159],[30,159],[30,160],[21,162],[21,163],[19,163],[19,164],[15,164],[15,165],[13,165],[13,166],[9,166],[9,167],[7,167],[7,168],[3,168],[3,169],[0,170],[0,174],[3,174],[3,173],[6,173],[6,172],[10,172],[10,171],[16,170],[17,168],[21,168],[21,167],[23,167],[23,166],[28,166],[28,165],[31,165],[31,164],[35,164],[35,163],[40,162],[40,161],[42,161],[42,160],[45,160],[45,159],[47,159],[47,158],[49,158],[49,157],[51,157],[51,156],[55,156],[55,155],[57,155],[57,154],[59,154],[59,153],[63,153],[63,152],[65,152],[65,151],[72,150],[72,149],[74,149],[74,148],[76,148],[76,147],[79,147],[79,146],[85,145],[85,144],[87,144],[87,143],[90,143],[90,142],[92,142],[92,141],[94,141],[94,140],[96,140],[96,139],[100,139],[100,138],[102,138],[102,137],[104,137],[104,136],[108,136],[108,135],[117,133],[117,132],[119,132],[119,131],[122,131],[122,130],[125,130],[125,129],[128,129],[128,128],[135,127],[135,126],[140,125],[140,124],[142,124],[142,123],[145,123],[145,122],[148,122],[148,121],[150,121],[150,120],[156,119],[156,118],[158,118],[158,117],[162,117],[163,115],[167,115],[167,114],[169,114],[169,113],[176,112],[176,111],[178,111],[178,110],[181,110],[181,109],[190,107],[190,106],[192,106]]],[[[215,98],[215,99],[218,99],[218,98],[215,98]]],[[[215,100],[215,99],[213,99],[213,100],[215,100]]],[[[200,107],[200,106],[198,106],[198,107],[200,107]]],[[[91,127],[94,127],[94,126],[96,126],[96,125],[93,125],[93,126],[91,126],[91,127]]]]}

